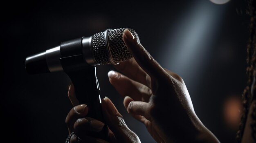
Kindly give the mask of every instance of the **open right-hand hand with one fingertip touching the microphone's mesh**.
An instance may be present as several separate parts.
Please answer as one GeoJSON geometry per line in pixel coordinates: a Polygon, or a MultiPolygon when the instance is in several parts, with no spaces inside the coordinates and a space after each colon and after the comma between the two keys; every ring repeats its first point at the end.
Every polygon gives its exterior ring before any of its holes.
{"type": "Polygon", "coordinates": [[[158,143],[219,142],[195,114],[182,78],[162,68],[130,31],[123,39],[134,58],[115,66],[123,74],[108,76],[127,111],[158,143]]]}

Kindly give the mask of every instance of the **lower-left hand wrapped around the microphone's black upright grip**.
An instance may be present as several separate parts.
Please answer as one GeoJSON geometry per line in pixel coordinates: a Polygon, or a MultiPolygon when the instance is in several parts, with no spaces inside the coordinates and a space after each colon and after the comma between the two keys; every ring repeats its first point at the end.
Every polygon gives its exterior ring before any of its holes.
{"type": "MultiPolygon", "coordinates": [[[[74,132],[70,138],[70,143],[108,143],[87,134],[88,131],[100,132],[103,129],[104,123],[86,117],[88,107],[85,104],[79,105],[73,85],[69,86],[68,97],[74,106],[66,117],[69,134],[74,132]]],[[[108,97],[101,100],[101,106],[103,117],[106,125],[108,125],[108,138],[111,143],[140,143],[139,137],[127,127],[122,115],[108,97]]]]}

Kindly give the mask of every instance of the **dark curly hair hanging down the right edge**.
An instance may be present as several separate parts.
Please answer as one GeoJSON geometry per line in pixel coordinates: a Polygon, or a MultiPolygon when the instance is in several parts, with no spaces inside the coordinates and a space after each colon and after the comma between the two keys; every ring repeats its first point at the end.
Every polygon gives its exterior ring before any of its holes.
{"type": "Polygon", "coordinates": [[[252,105],[252,101],[255,97],[255,77],[256,77],[256,0],[247,0],[247,14],[249,15],[249,40],[247,41],[247,68],[246,73],[248,76],[247,86],[242,94],[243,99],[243,114],[241,116],[241,122],[239,125],[239,130],[236,135],[238,143],[241,143],[243,132],[245,130],[246,120],[249,114],[250,106],[253,107],[253,112],[251,115],[253,122],[251,124],[252,137],[256,141],[256,104],[252,105]]]}

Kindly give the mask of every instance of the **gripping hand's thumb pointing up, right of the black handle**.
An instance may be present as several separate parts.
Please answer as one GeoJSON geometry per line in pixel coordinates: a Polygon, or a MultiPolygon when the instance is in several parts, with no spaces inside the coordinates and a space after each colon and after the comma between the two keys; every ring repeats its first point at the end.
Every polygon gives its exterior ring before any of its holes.
{"type": "Polygon", "coordinates": [[[123,116],[108,97],[101,100],[101,106],[106,124],[113,132],[118,143],[140,143],[137,134],[127,127],[123,116]]]}

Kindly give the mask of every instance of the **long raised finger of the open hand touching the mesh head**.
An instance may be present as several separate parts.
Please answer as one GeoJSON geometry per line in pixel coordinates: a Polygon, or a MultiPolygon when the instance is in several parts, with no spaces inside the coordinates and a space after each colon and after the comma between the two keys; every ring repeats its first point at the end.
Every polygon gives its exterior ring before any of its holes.
{"type": "Polygon", "coordinates": [[[124,42],[139,66],[151,77],[157,79],[165,73],[164,69],[151,57],[132,33],[126,29],[123,33],[124,42]]]}

